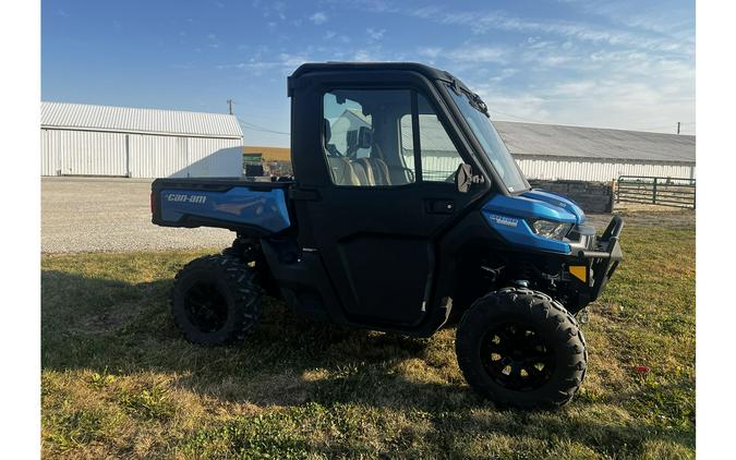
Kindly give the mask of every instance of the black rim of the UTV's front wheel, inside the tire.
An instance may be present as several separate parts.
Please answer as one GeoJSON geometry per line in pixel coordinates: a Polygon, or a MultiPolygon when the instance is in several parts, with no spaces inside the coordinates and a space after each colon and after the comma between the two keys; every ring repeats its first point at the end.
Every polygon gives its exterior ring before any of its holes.
{"type": "Polygon", "coordinates": [[[488,329],[481,344],[488,376],[515,391],[532,391],[546,384],[554,371],[554,350],[531,326],[504,323],[488,329]]]}

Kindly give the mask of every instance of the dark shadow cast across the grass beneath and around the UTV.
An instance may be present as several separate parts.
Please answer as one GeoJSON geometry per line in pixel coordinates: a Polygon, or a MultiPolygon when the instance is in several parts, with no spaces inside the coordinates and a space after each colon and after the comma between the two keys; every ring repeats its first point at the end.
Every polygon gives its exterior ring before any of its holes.
{"type": "Polygon", "coordinates": [[[626,417],[580,416],[593,405],[584,399],[571,404],[575,414],[569,408],[554,414],[495,411],[464,384],[453,330],[430,340],[350,329],[302,319],[267,299],[261,328],[241,346],[194,346],[171,319],[171,282],[128,283],[44,270],[43,368],[165,373],[173,376],[172,386],[224,402],[408,410],[427,413],[438,433],[526,434],[590,443],[613,455],[640,451],[651,439],[692,447],[689,432],[665,433],[642,421],[622,421],[626,417]]]}

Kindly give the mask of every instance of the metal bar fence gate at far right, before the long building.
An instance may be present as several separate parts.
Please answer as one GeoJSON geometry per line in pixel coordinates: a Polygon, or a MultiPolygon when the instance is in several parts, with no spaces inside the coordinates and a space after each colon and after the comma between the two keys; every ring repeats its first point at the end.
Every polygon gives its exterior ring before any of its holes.
{"type": "Polygon", "coordinates": [[[619,175],[616,202],[696,208],[696,180],[649,175],[619,175]]]}

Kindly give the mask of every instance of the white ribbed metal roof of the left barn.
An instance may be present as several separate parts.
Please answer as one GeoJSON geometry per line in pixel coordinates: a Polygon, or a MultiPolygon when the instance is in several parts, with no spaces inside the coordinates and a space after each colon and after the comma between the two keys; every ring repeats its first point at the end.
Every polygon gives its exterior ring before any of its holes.
{"type": "Polygon", "coordinates": [[[243,137],[238,119],[231,114],[68,102],[41,102],[41,126],[243,137]]]}

